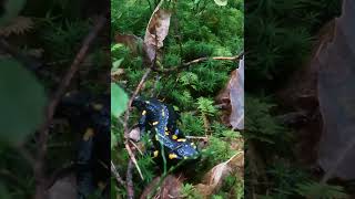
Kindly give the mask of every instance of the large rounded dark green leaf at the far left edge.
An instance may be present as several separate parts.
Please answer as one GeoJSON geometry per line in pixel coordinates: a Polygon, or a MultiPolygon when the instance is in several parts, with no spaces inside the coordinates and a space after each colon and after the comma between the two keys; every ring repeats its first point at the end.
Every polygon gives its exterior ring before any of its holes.
{"type": "Polygon", "coordinates": [[[37,77],[12,59],[0,60],[0,140],[19,144],[43,122],[47,97],[37,77]]]}

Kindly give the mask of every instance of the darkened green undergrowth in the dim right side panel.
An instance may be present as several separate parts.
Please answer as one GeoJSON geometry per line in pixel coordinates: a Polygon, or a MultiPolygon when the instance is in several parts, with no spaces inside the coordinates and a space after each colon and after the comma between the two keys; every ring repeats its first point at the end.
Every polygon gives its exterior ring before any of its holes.
{"type": "Polygon", "coordinates": [[[318,30],[341,13],[341,1],[260,0],[245,4],[246,198],[344,198],[345,188],[320,184],[295,155],[297,135],[277,119],[287,112],[276,91],[311,57],[318,30]]]}

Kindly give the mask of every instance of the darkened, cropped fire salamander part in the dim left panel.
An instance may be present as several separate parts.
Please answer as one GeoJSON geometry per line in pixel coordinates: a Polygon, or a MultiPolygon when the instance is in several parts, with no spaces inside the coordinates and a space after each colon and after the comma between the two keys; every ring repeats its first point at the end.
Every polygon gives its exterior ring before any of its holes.
{"type": "Polygon", "coordinates": [[[62,98],[59,109],[58,116],[67,117],[81,137],[75,160],[78,198],[89,198],[97,190],[101,190],[102,198],[109,198],[110,97],[71,92],[62,98]]]}

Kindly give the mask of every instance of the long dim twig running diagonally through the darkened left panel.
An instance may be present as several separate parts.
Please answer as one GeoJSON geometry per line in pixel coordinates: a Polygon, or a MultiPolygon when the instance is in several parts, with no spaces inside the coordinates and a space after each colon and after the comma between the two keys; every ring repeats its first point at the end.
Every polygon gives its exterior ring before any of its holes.
{"type": "Polygon", "coordinates": [[[69,67],[64,78],[59,85],[58,91],[54,93],[52,101],[48,105],[47,108],[47,115],[45,115],[45,122],[40,127],[39,130],[39,140],[38,140],[38,154],[37,154],[37,160],[34,164],[34,179],[37,181],[36,187],[36,199],[44,199],[47,198],[44,196],[45,192],[45,176],[44,176],[44,160],[45,160],[45,154],[47,154],[47,143],[48,143],[48,128],[52,122],[55,108],[65,93],[67,87],[70,85],[71,80],[73,78],[74,74],[79,70],[80,63],[84,60],[87,52],[90,48],[90,44],[92,41],[97,38],[100,30],[104,27],[106,23],[106,18],[101,17],[95,27],[92,29],[92,31],[87,35],[87,38],[83,41],[83,44],[75,55],[75,59],[73,60],[71,66],[69,67]]]}

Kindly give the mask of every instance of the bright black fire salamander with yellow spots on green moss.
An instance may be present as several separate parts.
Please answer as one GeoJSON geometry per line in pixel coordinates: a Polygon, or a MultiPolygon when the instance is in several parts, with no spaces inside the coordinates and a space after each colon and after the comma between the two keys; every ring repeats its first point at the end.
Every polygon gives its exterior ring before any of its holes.
{"type": "Polygon", "coordinates": [[[194,143],[189,142],[178,128],[178,113],[171,105],[155,98],[135,97],[132,104],[141,113],[139,127],[142,133],[150,130],[153,137],[153,156],[158,157],[161,146],[169,159],[196,159],[199,150],[194,143]]]}

